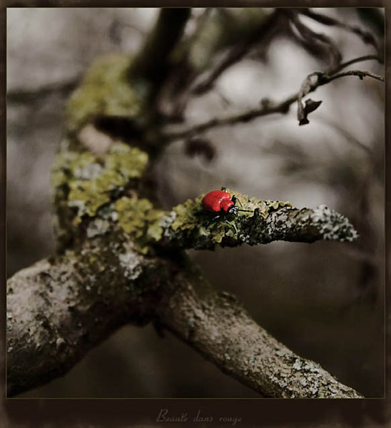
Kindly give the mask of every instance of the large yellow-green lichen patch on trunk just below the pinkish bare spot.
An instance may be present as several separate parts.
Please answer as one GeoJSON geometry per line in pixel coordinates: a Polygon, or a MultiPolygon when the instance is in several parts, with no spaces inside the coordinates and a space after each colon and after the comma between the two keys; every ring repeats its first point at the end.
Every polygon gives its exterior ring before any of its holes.
{"type": "Polygon", "coordinates": [[[114,143],[102,158],[91,153],[61,153],[54,163],[52,185],[58,199],[65,198],[68,207],[78,208],[77,224],[83,215],[96,215],[116,190],[141,177],[147,163],[145,152],[123,143],[114,143]],[[61,193],[64,187],[67,192],[61,193]]]}

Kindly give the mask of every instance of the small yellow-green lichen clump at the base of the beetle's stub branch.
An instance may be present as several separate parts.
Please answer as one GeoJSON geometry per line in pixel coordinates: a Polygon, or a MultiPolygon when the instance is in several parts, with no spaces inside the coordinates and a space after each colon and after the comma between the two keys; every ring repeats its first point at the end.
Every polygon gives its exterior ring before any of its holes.
{"type": "Polygon", "coordinates": [[[128,198],[116,200],[116,212],[121,228],[131,235],[141,253],[148,253],[148,245],[163,235],[160,225],[163,210],[156,210],[148,199],[128,198]]]}

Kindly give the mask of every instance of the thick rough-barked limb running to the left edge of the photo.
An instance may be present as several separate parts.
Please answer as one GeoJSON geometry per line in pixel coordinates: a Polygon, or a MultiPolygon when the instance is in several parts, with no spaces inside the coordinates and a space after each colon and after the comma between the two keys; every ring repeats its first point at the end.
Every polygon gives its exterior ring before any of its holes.
{"type": "Polygon", "coordinates": [[[147,261],[128,248],[111,254],[84,250],[81,258],[70,253],[41,260],[11,277],[8,395],[66,373],[126,322],[143,325],[151,320],[163,271],[162,263],[147,261]],[[108,264],[91,263],[98,258],[108,264]]]}

